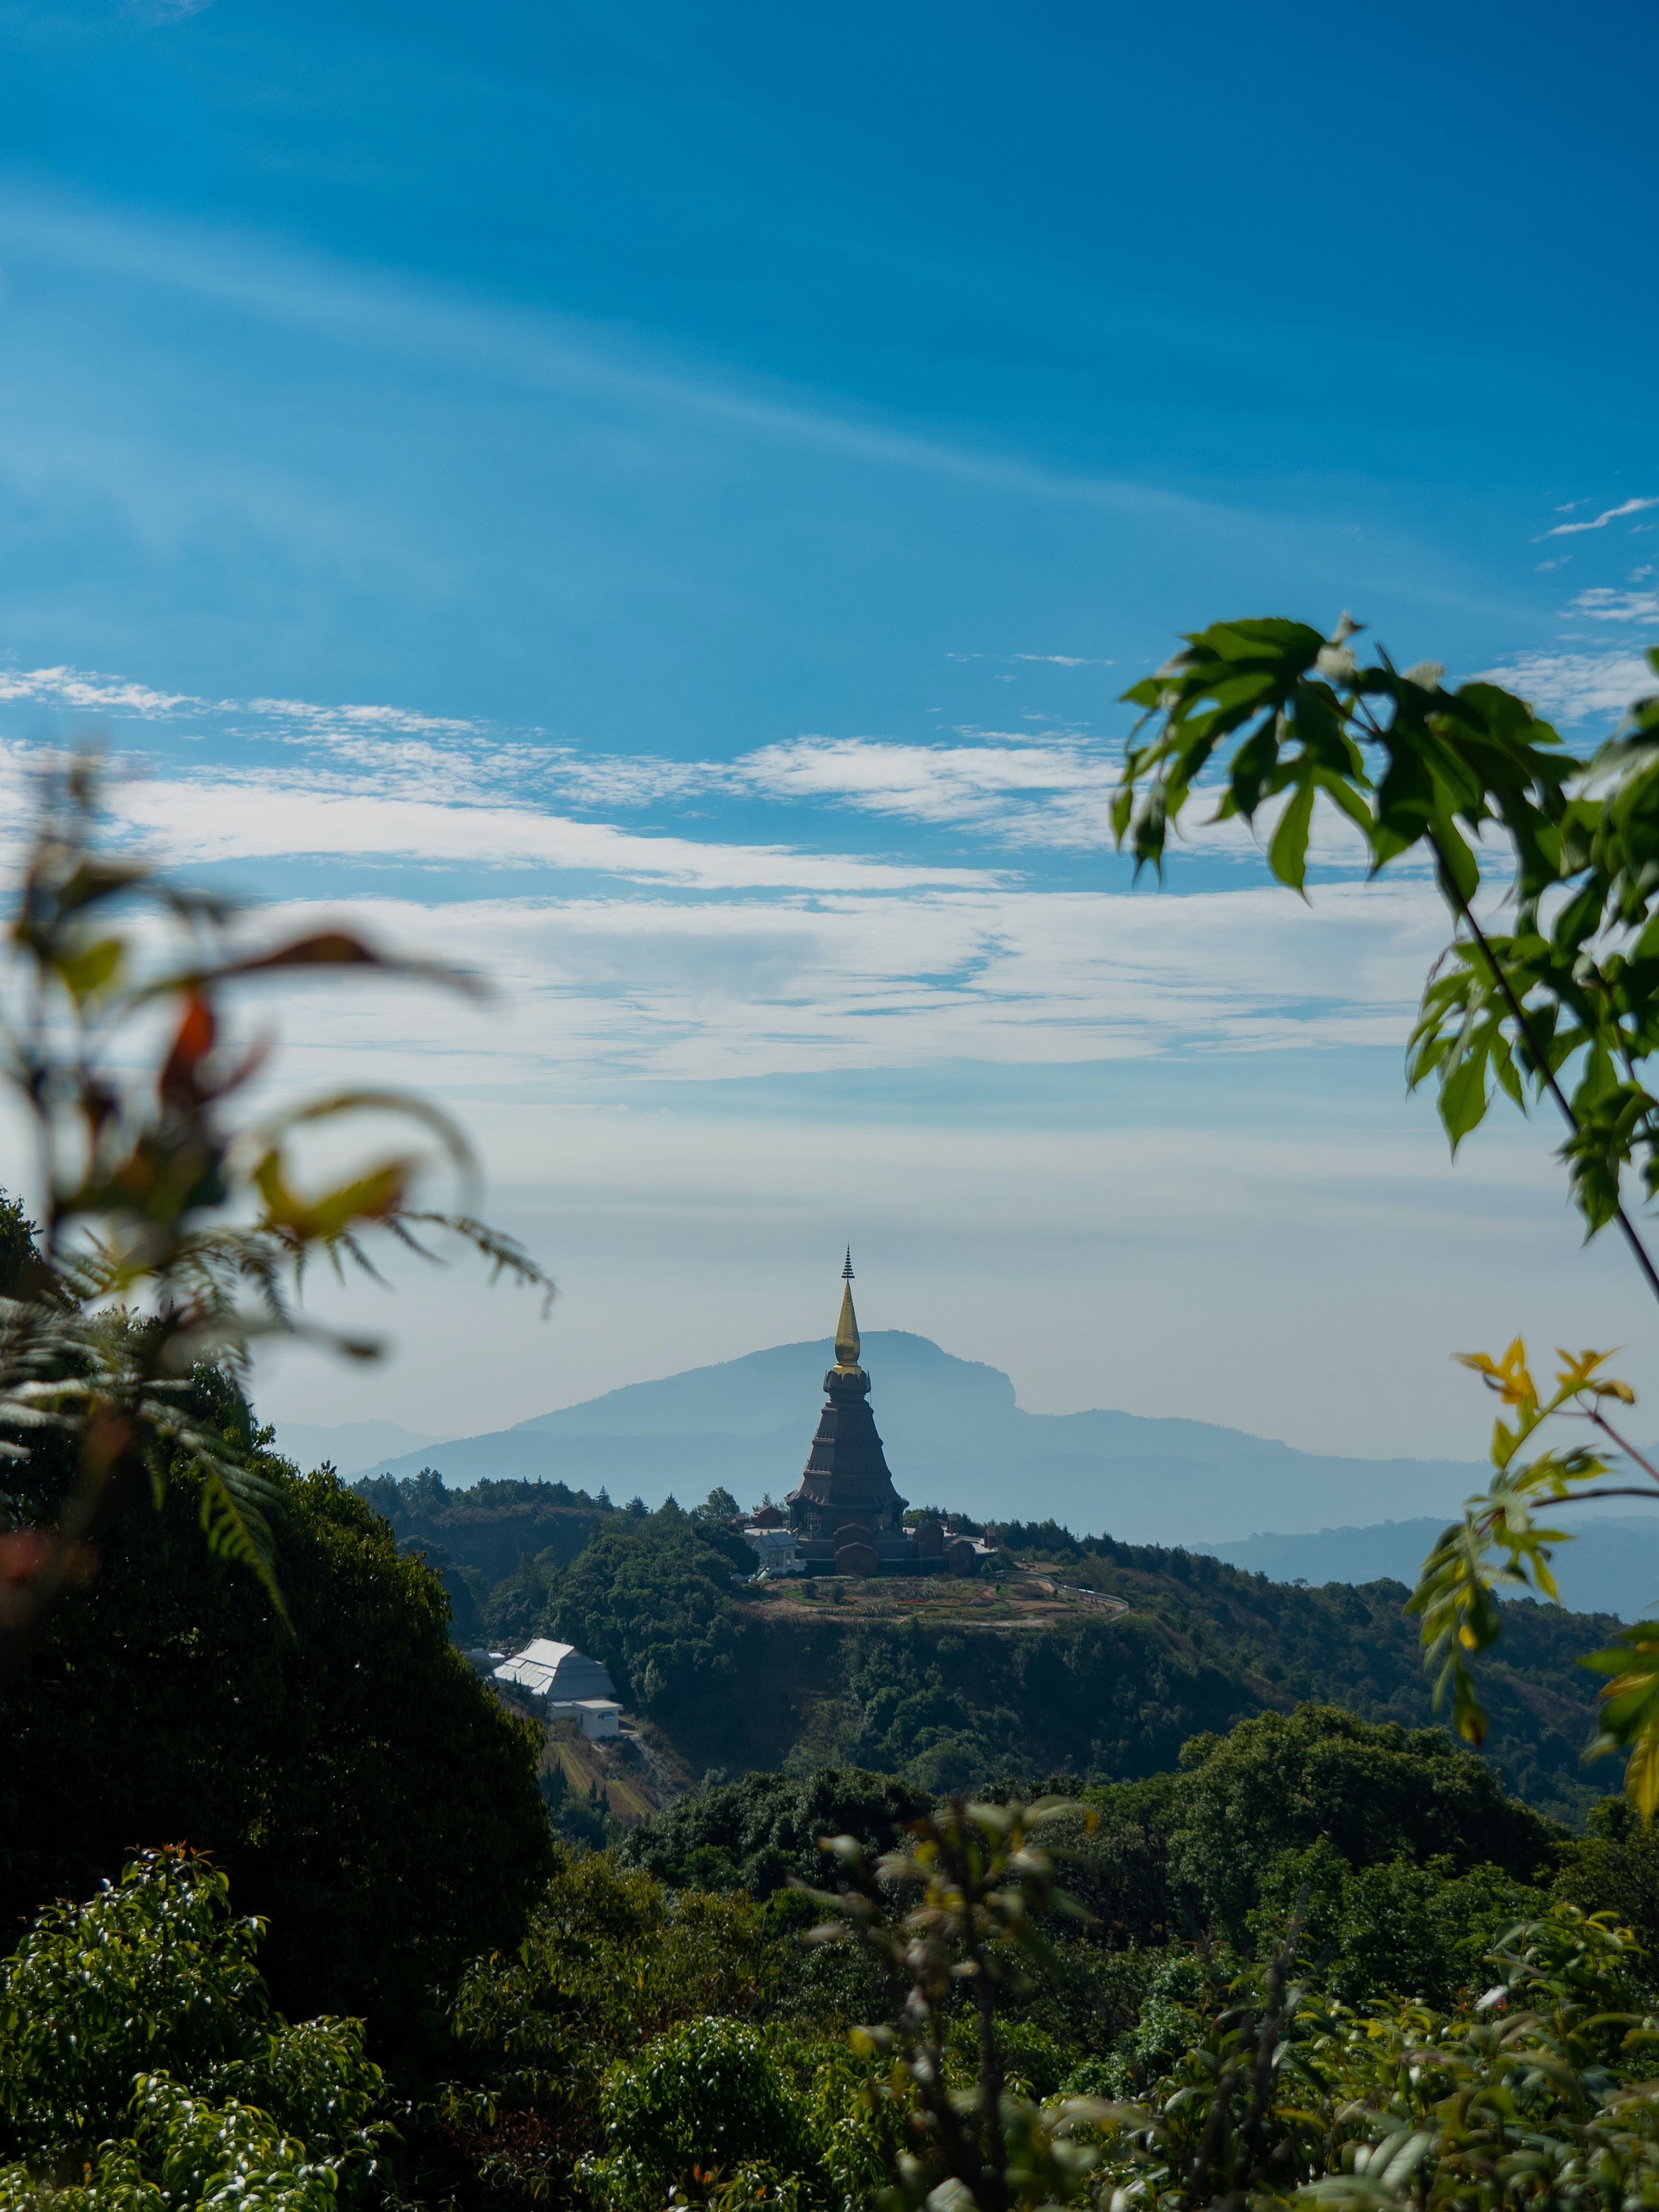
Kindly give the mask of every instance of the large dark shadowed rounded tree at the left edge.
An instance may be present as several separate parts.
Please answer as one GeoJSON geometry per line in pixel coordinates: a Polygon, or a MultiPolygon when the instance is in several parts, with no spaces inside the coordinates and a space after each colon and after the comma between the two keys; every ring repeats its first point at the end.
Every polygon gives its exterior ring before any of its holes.
{"type": "Polygon", "coordinates": [[[518,1940],[546,1876],[540,1736],[449,1641],[438,1577],[334,1473],[248,1442],[221,1369],[179,1402],[261,1482],[285,1617],[204,1559],[204,1478],[175,1462],[161,1509],[108,1531],[0,1688],[0,1927],[115,1878],[137,1838],[186,1836],[270,1920],[288,2011],[414,2035],[436,1984],[518,1940]]]}

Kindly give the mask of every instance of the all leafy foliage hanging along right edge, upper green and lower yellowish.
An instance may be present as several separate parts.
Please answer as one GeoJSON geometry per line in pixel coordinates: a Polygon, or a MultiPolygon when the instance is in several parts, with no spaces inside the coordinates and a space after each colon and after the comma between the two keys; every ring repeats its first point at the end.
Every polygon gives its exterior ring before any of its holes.
{"type": "MultiPolygon", "coordinates": [[[[1436,661],[1360,661],[1358,635],[1347,615],[1329,637],[1283,619],[1190,633],[1183,653],[1124,695],[1146,712],[1113,803],[1119,849],[1128,845],[1137,872],[1161,872],[1170,830],[1203,790],[1219,801],[1212,821],[1254,825],[1272,803],[1267,865],[1303,896],[1321,803],[1363,841],[1371,876],[1427,858],[1453,940],[1411,1031],[1411,1086],[1438,1079],[1453,1152],[1498,1091],[1522,1110],[1548,1095],[1566,1121],[1562,1159],[1586,1237],[1617,1221],[1659,1296],[1659,1270],[1624,1203],[1628,1172],[1646,1199],[1659,1194],[1659,1095],[1648,1084],[1659,1048],[1659,692],[1579,759],[1513,692],[1482,681],[1447,690],[1436,661]],[[1500,896],[1482,898],[1493,867],[1500,896]],[[1489,927],[1498,907],[1506,931],[1489,927]]],[[[1648,666],[1659,677],[1659,648],[1648,666]]],[[[1425,1559],[1409,1604],[1436,1701],[1451,1694],[1471,1743],[1486,1728],[1471,1659],[1500,1635],[1498,1588],[1557,1597],[1551,1544],[1568,1531],[1540,1524],[1533,1509],[1606,1495],[1659,1502],[1659,1471],[1608,1420],[1608,1405],[1635,1402],[1628,1385],[1599,1374],[1608,1354],[1559,1358],[1555,1391],[1542,1398],[1520,1338],[1502,1360],[1464,1356],[1515,1418],[1500,1416],[1493,1480],[1425,1559]],[[1586,1420],[1619,1458],[1582,1444],[1522,1460],[1555,1416],[1586,1420]],[[1650,1480],[1608,1486],[1628,1469],[1650,1480]]],[[[1628,1750],[1626,1787],[1650,1818],[1659,1628],[1628,1628],[1586,1666],[1613,1677],[1593,1752],[1628,1750]]]]}

